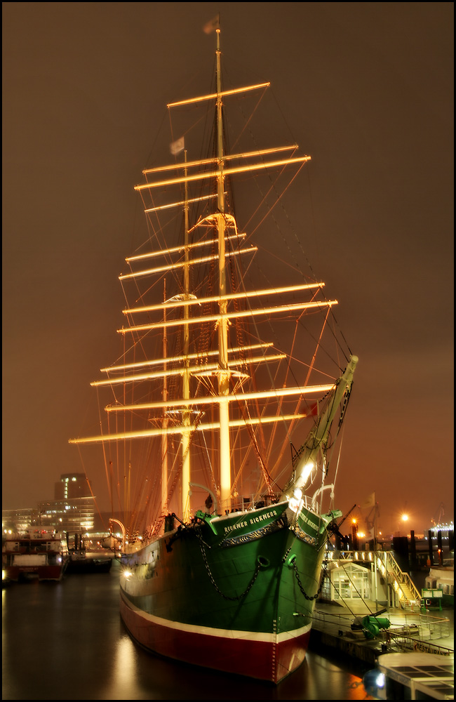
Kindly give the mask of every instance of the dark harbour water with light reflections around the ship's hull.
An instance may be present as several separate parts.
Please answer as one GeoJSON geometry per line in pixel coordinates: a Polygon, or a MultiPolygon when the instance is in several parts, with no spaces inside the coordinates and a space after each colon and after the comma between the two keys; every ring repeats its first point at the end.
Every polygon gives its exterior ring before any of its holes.
{"type": "Polygon", "coordinates": [[[119,616],[119,563],[109,574],[2,591],[4,700],[362,700],[359,673],[309,651],[279,686],[152,656],[119,616]]]}

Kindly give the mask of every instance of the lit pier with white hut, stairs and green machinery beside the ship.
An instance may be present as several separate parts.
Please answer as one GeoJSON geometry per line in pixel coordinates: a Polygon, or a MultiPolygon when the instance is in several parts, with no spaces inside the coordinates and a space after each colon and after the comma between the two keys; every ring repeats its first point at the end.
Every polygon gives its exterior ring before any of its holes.
{"type": "MultiPolygon", "coordinates": [[[[431,602],[391,552],[331,552],[314,609],[309,649],[344,658],[361,675],[378,667],[384,654],[433,654],[450,677],[445,677],[445,696],[432,689],[431,697],[453,699],[448,689],[452,694],[454,608],[442,609],[441,602],[431,607],[431,602]]],[[[427,680],[428,686],[433,684],[434,679],[427,680]]]]}

